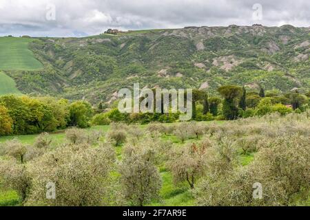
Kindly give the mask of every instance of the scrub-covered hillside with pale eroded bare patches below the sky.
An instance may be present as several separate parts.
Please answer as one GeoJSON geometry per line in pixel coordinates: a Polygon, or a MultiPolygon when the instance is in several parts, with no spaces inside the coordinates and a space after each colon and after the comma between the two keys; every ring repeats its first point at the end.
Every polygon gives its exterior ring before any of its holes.
{"type": "Polygon", "coordinates": [[[310,28],[291,25],[39,38],[28,47],[44,69],[6,71],[28,94],[96,103],[112,102],[115,91],[134,83],[149,88],[204,88],[211,93],[230,83],[284,92],[310,88],[310,28]]]}

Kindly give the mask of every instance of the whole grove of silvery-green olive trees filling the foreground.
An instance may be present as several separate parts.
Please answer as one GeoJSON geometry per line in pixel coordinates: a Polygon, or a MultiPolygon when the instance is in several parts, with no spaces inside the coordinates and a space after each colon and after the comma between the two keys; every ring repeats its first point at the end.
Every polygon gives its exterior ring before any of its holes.
{"type": "Polygon", "coordinates": [[[176,187],[192,189],[198,205],[289,205],[309,195],[309,128],[305,112],[146,129],[112,124],[106,134],[73,128],[56,148],[43,133],[32,146],[17,140],[1,144],[0,180],[19,192],[24,205],[143,206],[160,199],[158,167],[165,167],[176,187]],[[186,144],[161,138],[183,130],[191,138],[186,144]],[[116,156],[113,146],[123,146],[122,154],[116,156]],[[254,160],[243,164],[250,152],[254,160]],[[46,197],[49,183],[56,199],[46,197]],[[262,185],[262,199],[252,195],[255,183],[262,185]]]}

